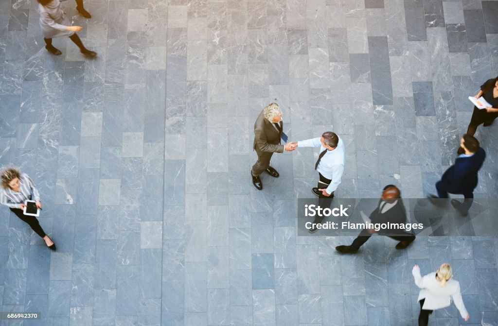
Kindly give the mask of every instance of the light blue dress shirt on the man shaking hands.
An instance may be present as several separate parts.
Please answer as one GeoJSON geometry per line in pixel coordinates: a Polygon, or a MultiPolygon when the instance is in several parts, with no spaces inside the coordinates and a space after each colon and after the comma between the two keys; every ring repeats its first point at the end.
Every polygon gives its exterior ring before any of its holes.
{"type": "MultiPolygon", "coordinates": [[[[297,142],[298,147],[320,147],[320,153],[326,150],[320,141],[321,137],[301,140],[297,142]]],[[[344,142],[339,137],[339,142],[334,150],[328,150],[318,164],[317,171],[325,178],[332,180],[327,187],[327,193],[332,194],[341,184],[341,178],[346,165],[346,153],[344,142]]]]}

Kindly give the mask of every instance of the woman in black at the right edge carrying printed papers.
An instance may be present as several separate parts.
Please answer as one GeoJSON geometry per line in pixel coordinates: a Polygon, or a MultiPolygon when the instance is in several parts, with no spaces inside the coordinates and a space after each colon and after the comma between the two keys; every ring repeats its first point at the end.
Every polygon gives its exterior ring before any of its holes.
{"type": "Polygon", "coordinates": [[[476,133],[476,129],[481,123],[484,123],[484,126],[487,127],[498,116],[498,77],[492,78],[481,85],[481,90],[475,98],[479,99],[481,96],[491,104],[491,107],[486,109],[474,107],[474,112],[472,113],[472,118],[467,129],[467,134],[471,136],[476,133]]]}

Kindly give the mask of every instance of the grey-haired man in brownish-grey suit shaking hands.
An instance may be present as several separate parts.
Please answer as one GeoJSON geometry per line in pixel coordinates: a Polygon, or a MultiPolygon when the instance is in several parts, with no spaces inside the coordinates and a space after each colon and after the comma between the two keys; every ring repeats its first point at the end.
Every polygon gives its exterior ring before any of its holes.
{"type": "Polygon", "coordinates": [[[259,113],[254,123],[253,148],[257,153],[257,162],[252,166],[251,177],[252,184],[257,190],[263,189],[259,178],[263,171],[274,178],[279,177],[278,172],[270,166],[273,153],[283,153],[284,150],[290,152],[296,148],[297,144],[292,142],[285,146],[280,144],[282,131],[282,111],[276,103],[270,103],[259,113]]]}

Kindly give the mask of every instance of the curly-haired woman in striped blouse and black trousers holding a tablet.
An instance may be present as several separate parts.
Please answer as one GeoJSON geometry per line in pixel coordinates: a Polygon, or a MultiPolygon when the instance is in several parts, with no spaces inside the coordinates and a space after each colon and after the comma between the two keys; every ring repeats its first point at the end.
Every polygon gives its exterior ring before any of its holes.
{"type": "Polygon", "coordinates": [[[33,231],[45,240],[47,247],[55,250],[55,243],[45,234],[38,219],[25,215],[23,212],[26,206],[24,203],[31,199],[36,202],[36,208],[41,210],[40,194],[36,190],[33,180],[17,169],[7,168],[1,172],[1,188],[1,204],[8,206],[17,217],[28,223],[33,231]]]}

